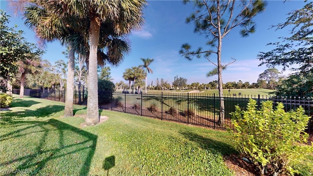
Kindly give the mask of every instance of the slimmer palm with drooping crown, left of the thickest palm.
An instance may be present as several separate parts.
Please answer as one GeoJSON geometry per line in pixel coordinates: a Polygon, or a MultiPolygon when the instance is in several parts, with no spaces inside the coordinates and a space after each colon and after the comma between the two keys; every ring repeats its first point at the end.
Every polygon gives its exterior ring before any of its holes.
{"type": "Polygon", "coordinates": [[[70,41],[69,37],[79,35],[75,28],[83,26],[77,19],[60,18],[51,10],[44,1],[36,1],[31,6],[26,7],[24,16],[25,24],[36,32],[36,35],[43,41],[59,40],[62,44],[67,44],[68,65],[67,65],[67,92],[65,101],[64,116],[73,116],[74,97],[74,53],[75,41],[70,41]]]}

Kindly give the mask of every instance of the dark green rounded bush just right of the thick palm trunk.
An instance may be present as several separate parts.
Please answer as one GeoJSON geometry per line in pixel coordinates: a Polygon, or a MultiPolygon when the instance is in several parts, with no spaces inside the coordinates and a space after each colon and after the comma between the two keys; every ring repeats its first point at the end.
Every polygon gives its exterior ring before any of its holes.
{"type": "Polygon", "coordinates": [[[110,103],[113,99],[115,85],[111,81],[98,80],[98,101],[99,105],[110,103]]]}

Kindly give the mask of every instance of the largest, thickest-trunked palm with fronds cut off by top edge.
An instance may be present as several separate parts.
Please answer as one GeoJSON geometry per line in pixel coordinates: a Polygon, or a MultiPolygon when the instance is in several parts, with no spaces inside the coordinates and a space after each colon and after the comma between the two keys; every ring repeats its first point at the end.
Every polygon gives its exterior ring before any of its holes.
{"type": "MultiPolygon", "coordinates": [[[[98,111],[98,80],[97,80],[97,54],[100,40],[100,31],[108,21],[118,35],[129,34],[133,28],[140,28],[143,23],[142,10],[146,4],[141,0],[64,0],[47,1],[55,14],[68,18],[85,20],[88,30],[89,56],[88,56],[88,108],[86,122],[88,125],[97,124],[98,111]]],[[[114,53],[112,53],[114,54],[114,53]]]]}

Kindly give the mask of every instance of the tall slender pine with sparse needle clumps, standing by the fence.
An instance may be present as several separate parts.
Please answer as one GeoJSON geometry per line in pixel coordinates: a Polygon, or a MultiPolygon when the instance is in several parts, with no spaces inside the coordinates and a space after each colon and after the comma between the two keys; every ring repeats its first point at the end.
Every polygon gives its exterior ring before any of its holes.
{"type": "MultiPolygon", "coordinates": [[[[242,26],[242,36],[248,36],[255,31],[252,18],[265,10],[266,2],[263,0],[195,0],[195,12],[186,18],[186,23],[195,23],[195,32],[208,39],[207,49],[199,47],[192,50],[190,44],[182,44],[179,53],[188,60],[203,56],[218,67],[218,85],[220,96],[219,125],[224,124],[225,110],[222,81],[222,43],[224,37],[235,27],[242,26]],[[216,50],[214,49],[216,48],[216,50]],[[217,63],[211,60],[211,54],[216,54],[217,63]]],[[[230,64],[230,63],[229,63],[230,64]]],[[[229,65],[228,64],[228,65],[229,65]]]]}

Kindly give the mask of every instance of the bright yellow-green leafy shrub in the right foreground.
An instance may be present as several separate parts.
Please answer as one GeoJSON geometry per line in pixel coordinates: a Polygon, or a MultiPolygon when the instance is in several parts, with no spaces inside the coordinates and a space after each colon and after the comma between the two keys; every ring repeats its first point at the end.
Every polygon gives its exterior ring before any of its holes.
{"type": "Polygon", "coordinates": [[[247,110],[236,106],[236,111],[231,113],[238,150],[259,168],[260,174],[300,172],[292,166],[313,152],[313,147],[305,144],[308,134],[304,130],[309,117],[303,112],[302,107],[285,112],[282,103],[273,110],[271,101],[263,102],[257,110],[256,101],[250,99],[247,110]]]}

